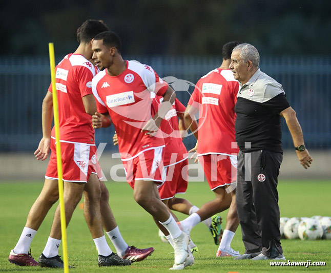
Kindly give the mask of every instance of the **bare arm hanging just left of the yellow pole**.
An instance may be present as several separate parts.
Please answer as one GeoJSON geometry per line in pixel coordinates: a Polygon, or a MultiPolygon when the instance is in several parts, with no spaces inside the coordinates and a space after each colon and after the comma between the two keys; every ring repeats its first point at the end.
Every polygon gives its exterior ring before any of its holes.
{"type": "Polygon", "coordinates": [[[51,92],[47,92],[43,100],[42,108],[42,124],[43,124],[43,138],[40,140],[38,149],[34,152],[37,160],[44,161],[49,154],[51,147],[51,131],[53,120],[53,97],[51,92]]]}

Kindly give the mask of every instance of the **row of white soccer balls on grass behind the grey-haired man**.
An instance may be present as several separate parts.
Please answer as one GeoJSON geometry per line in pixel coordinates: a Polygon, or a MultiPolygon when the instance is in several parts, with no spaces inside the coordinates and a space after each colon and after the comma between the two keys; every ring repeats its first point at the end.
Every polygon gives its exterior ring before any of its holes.
{"type": "Polygon", "coordinates": [[[331,239],[331,217],[313,216],[280,218],[282,238],[301,240],[331,239]]]}

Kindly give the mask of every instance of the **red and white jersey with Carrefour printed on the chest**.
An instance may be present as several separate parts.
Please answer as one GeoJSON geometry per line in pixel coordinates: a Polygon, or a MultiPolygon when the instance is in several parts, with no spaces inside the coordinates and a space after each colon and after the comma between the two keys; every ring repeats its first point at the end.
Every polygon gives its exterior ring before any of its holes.
{"type": "Polygon", "coordinates": [[[105,69],[92,80],[98,112],[109,113],[122,160],[164,146],[160,130],[153,137],[141,133],[141,130],[152,118],[151,92],[163,95],[168,88],[168,83],[150,66],[135,60],[127,60],[126,66],[126,70],[117,76],[108,75],[105,69]]]}

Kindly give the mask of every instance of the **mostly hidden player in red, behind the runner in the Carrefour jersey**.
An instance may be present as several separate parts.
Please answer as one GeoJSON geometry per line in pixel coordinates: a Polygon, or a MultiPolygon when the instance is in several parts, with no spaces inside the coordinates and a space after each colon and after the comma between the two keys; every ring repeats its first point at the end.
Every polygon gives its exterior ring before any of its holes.
{"type": "MultiPolygon", "coordinates": [[[[155,108],[157,109],[162,97],[156,96],[153,100],[155,108]]],[[[163,175],[166,177],[165,182],[158,188],[161,200],[168,205],[173,211],[177,211],[186,215],[191,215],[198,211],[198,207],[192,205],[188,200],[183,198],[177,198],[175,195],[178,193],[185,193],[188,186],[188,151],[186,150],[180,131],[185,130],[184,125],[184,113],[185,107],[176,98],[172,105],[172,108],[164,117],[161,122],[161,130],[164,135],[164,142],[166,144],[165,153],[163,157],[163,175]],[[180,123],[178,123],[178,117],[180,123]],[[180,129],[179,129],[180,124],[180,129]]],[[[191,124],[192,131],[196,131],[198,128],[197,122],[194,120],[191,124]]],[[[176,221],[177,217],[174,216],[176,221]]],[[[219,216],[213,216],[214,221],[219,216]]],[[[212,228],[212,218],[208,218],[203,223],[209,228],[212,228]]],[[[168,241],[172,244],[171,236],[160,227],[162,233],[166,236],[168,241]]],[[[191,244],[192,250],[197,251],[194,244],[191,244]]]]}

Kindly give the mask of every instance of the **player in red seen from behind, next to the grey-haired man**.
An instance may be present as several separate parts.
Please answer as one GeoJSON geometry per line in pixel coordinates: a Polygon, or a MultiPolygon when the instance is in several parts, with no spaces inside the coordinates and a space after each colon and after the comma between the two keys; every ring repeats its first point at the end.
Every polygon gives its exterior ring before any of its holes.
{"type": "Polygon", "coordinates": [[[197,82],[185,113],[189,126],[192,117],[199,111],[198,141],[192,151],[197,152],[215,199],[180,223],[190,231],[201,220],[230,207],[217,257],[239,255],[231,248],[239,225],[235,199],[238,147],[235,143],[234,111],[239,83],[229,69],[232,50],[238,44],[232,41],[223,46],[222,65],[197,82]]]}

